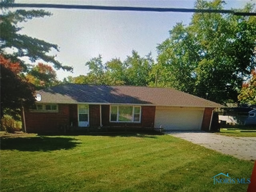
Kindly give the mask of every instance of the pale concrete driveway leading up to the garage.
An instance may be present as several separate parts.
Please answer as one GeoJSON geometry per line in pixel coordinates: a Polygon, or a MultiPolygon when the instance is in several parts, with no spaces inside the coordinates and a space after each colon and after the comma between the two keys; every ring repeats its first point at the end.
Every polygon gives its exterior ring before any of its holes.
{"type": "Polygon", "coordinates": [[[173,131],[168,134],[239,159],[256,159],[256,137],[229,137],[208,132],[173,131]]]}

